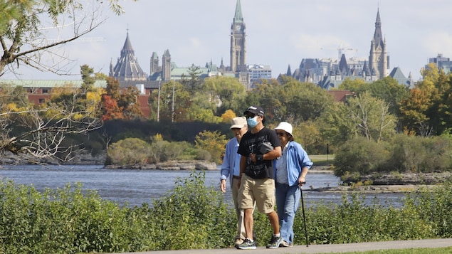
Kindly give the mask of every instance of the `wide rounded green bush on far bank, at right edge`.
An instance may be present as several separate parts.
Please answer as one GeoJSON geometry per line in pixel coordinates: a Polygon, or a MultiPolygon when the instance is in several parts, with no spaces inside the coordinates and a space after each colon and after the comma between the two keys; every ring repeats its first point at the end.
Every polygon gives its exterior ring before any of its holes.
{"type": "Polygon", "coordinates": [[[343,144],[335,154],[335,175],[382,172],[431,173],[451,171],[452,144],[447,137],[414,137],[397,134],[389,142],[363,137],[343,144]]]}

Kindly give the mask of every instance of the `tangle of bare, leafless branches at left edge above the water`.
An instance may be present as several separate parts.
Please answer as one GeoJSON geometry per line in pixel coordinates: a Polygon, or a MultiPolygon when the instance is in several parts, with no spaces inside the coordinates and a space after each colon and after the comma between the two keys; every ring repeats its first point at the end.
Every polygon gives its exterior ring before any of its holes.
{"type": "Polygon", "coordinates": [[[61,105],[49,102],[35,107],[21,102],[21,96],[5,84],[0,91],[0,154],[15,162],[68,161],[80,149],[80,144],[68,142],[68,134],[86,134],[101,126],[94,112],[78,109],[77,96],[68,96],[61,105]]]}

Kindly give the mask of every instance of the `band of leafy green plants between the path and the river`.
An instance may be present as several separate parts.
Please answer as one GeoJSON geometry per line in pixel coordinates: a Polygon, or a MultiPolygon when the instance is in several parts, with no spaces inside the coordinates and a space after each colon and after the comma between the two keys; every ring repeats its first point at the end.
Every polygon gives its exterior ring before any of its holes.
{"type": "MultiPolygon", "coordinates": [[[[452,185],[406,194],[394,208],[364,196],[307,208],[310,244],[357,243],[452,237],[452,185]]],[[[232,248],[235,211],[204,171],[177,179],[174,190],[151,204],[127,208],[106,201],[80,184],[38,192],[0,181],[0,253],[93,253],[232,248]]],[[[305,244],[303,215],[295,220],[295,245],[305,244]]],[[[271,230],[255,213],[258,244],[271,230]]]]}

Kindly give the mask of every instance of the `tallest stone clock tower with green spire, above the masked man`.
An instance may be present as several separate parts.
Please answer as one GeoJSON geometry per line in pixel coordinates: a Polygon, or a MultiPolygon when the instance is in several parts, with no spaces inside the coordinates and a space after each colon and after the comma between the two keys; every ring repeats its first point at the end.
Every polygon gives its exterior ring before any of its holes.
{"type": "Polygon", "coordinates": [[[240,0],[237,0],[236,14],[231,25],[231,71],[246,71],[246,34],[240,0]]]}

